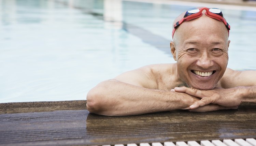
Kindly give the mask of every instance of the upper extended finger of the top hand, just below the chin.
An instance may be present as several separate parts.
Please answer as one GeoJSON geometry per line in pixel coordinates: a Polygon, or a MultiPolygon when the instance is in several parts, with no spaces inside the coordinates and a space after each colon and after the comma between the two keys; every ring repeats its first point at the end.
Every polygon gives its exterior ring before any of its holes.
{"type": "Polygon", "coordinates": [[[176,92],[184,92],[194,97],[203,98],[204,94],[201,90],[196,88],[187,88],[187,87],[175,87],[174,90],[176,92]]]}

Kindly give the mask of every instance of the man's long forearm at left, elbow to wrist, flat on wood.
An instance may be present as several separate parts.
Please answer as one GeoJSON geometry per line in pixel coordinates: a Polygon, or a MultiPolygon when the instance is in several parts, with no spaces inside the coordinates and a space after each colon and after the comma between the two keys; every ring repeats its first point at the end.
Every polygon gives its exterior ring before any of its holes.
{"type": "Polygon", "coordinates": [[[100,115],[138,115],[182,108],[171,91],[147,89],[116,80],[100,83],[87,94],[87,109],[100,115]]]}

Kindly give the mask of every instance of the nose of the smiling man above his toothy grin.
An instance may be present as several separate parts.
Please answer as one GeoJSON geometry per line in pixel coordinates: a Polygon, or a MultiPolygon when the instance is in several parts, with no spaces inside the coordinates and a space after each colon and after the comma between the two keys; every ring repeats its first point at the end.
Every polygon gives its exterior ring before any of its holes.
{"type": "Polygon", "coordinates": [[[214,62],[209,53],[205,51],[201,53],[200,58],[197,60],[196,64],[203,69],[208,69],[214,65],[214,62]]]}

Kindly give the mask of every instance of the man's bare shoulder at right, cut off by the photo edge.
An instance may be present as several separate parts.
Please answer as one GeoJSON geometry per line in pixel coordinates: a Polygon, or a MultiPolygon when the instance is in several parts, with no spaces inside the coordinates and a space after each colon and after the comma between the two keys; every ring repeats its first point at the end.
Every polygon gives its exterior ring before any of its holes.
{"type": "Polygon", "coordinates": [[[236,71],[227,68],[220,81],[223,88],[254,86],[256,85],[256,71],[236,71]]]}

